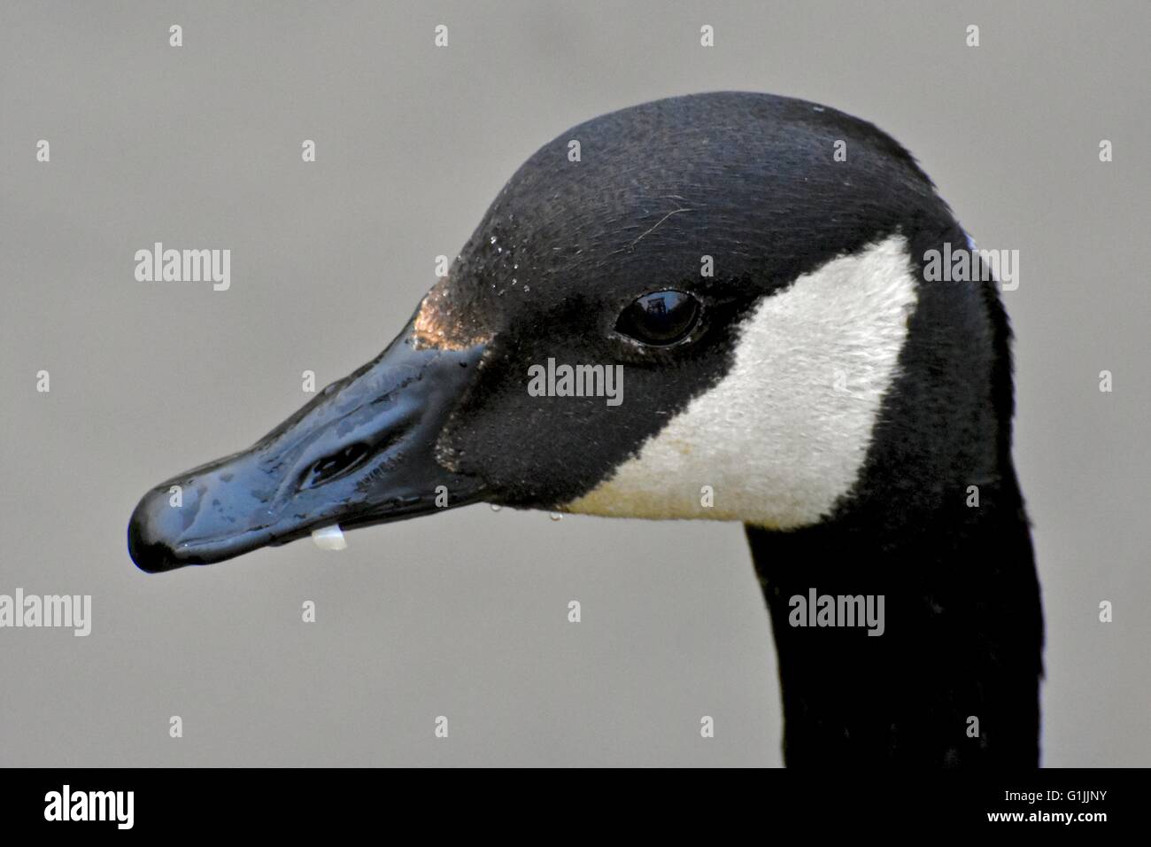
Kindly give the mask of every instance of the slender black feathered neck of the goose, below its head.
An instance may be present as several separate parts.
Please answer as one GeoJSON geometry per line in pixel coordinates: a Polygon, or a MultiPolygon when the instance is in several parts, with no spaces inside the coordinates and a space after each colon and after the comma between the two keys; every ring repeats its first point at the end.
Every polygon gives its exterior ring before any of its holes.
{"type": "Polygon", "coordinates": [[[861,525],[748,528],[790,766],[1037,765],[1043,623],[1014,479],[959,508],[898,538],[861,525]],[[883,595],[883,634],[792,626],[791,598],[813,588],[883,595]]]}

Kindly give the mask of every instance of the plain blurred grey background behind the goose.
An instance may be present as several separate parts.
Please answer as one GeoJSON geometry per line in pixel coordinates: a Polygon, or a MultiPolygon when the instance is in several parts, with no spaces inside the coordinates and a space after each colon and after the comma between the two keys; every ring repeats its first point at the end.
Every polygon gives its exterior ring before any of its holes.
{"type": "Polygon", "coordinates": [[[87,638],[0,630],[0,763],[778,764],[738,524],[481,505],[353,532],[342,554],[297,543],[160,576],[124,547],[147,486],[264,434],[307,399],[303,370],[322,386],[378,353],[538,146],[748,89],[875,121],[982,247],[1021,251],[1006,300],[1044,763],[1151,764],[1151,7],[948,6],[2,3],[0,592],[91,593],[94,620],[87,638]],[[231,290],[137,282],[153,241],[230,248],[231,290]]]}

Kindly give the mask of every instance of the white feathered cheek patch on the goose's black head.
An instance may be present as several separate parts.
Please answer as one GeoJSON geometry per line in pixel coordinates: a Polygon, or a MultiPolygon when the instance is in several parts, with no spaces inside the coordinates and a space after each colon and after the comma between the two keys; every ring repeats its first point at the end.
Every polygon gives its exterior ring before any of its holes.
{"type": "Polygon", "coordinates": [[[915,302],[901,236],[803,274],[755,307],[718,385],[566,511],[818,522],[859,477],[915,302]]]}

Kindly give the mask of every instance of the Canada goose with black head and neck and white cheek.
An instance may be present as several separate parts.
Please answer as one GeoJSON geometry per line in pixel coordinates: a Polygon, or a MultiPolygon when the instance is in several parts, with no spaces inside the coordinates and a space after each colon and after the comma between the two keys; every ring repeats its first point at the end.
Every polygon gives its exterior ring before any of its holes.
{"type": "Polygon", "coordinates": [[[148,491],[129,552],[209,564],[444,498],[741,521],[788,765],[1035,766],[1011,332],[993,281],[923,273],[968,244],[914,159],[836,109],[724,92],[603,115],[519,168],[379,357],[148,491]],[[551,360],[622,365],[622,402],[529,392],[551,360]],[[882,602],[882,634],[800,613],[843,623],[845,597],[882,602]]]}

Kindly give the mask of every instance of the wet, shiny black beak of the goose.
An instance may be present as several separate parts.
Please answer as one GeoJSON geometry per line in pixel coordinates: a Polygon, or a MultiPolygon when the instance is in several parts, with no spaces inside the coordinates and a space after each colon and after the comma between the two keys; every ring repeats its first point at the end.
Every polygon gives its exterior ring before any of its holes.
{"type": "Polygon", "coordinates": [[[482,497],[436,461],[448,417],[483,346],[419,349],[412,325],[374,361],[329,385],[250,449],[144,494],[128,524],[142,570],[208,565],[331,524],[397,521],[482,497]]]}

